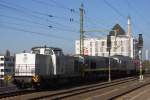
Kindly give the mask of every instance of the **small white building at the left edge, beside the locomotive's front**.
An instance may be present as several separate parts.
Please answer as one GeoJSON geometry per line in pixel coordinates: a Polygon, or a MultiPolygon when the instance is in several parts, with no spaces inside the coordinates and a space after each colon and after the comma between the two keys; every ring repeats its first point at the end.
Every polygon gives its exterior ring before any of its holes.
{"type": "Polygon", "coordinates": [[[14,57],[10,55],[0,55],[0,80],[4,80],[5,75],[13,75],[14,57]]]}

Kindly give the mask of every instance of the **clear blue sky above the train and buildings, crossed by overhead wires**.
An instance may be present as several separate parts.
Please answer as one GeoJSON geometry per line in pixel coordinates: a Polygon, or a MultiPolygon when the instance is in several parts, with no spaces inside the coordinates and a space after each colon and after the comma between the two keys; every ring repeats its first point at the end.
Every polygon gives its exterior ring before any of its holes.
{"type": "MultiPolygon", "coordinates": [[[[133,36],[142,33],[144,48],[150,48],[150,0],[0,0],[0,53],[6,49],[13,53],[29,51],[42,45],[74,53],[81,3],[85,30],[111,29],[119,23],[126,31],[130,15],[133,36]]],[[[86,36],[103,34],[108,33],[86,36]]]]}

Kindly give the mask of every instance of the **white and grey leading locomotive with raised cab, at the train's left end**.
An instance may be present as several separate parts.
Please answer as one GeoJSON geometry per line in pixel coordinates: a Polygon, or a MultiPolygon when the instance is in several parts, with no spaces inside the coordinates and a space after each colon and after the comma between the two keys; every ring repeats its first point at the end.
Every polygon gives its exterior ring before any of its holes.
{"type": "Polygon", "coordinates": [[[17,84],[76,76],[79,76],[78,57],[64,56],[59,48],[34,47],[31,53],[16,54],[17,84]]]}

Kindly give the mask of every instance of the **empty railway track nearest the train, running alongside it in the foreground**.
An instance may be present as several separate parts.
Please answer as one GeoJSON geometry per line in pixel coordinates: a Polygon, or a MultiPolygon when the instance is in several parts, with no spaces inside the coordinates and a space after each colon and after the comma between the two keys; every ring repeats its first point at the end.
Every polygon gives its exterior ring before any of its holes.
{"type": "Polygon", "coordinates": [[[45,98],[50,98],[52,100],[60,100],[60,99],[65,99],[65,98],[68,98],[71,96],[75,96],[75,95],[79,95],[79,94],[83,94],[83,93],[87,93],[87,92],[92,92],[92,91],[95,91],[98,89],[127,83],[127,82],[134,81],[134,80],[137,80],[137,78],[130,77],[130,78],[126,78],[126,79],[115,80],[112,82],[104,82],[104,83],[94,84],[94,85],[85,86],[85,87],[78,87],[78,88],[70,89],[70,90],[66,90],[66,91],[60,91],[60,92],[52,93],[52,94],[45,95],[45,96],[39,96],[39,97],[30,99],[30,100],[38,100],[38,99],[41,100],[41,99],[45,99],[45,98]]]}

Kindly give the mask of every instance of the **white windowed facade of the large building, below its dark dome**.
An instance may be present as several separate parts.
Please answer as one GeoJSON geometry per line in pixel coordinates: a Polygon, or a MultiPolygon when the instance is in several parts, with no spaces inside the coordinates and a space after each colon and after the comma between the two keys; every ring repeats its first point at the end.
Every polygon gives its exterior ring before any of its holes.
{"type": "MultiPolygon", "coordinates": [[[[133,38],[131,38],[131,50],[129,53],[129,41],[127,36],[111,36],[111,56],[124,55],[134,57],[133,38]]],[[[80,54],[80,41],[75,42],[75,52],[80,54]]],[[[86,38],[84,40],[84,55],[108,57],[107,38],[86,38]]]]}

